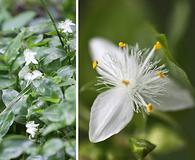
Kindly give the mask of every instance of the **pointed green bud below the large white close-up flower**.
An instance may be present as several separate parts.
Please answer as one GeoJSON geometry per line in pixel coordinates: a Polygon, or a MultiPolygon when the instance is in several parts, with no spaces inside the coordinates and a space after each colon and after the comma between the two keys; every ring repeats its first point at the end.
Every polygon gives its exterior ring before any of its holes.
{"type": "Polygon", "coordinates": [[[130,138],[130,150],[138,160],[143,160],[156,147],[145,139],[130,138]]]}

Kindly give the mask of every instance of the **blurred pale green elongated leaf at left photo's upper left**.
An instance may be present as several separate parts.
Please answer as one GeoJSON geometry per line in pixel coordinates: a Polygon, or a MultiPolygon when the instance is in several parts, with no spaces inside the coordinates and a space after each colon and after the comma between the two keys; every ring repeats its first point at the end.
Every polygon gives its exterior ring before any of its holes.
{"type": "Polygon", "coordinates": [[[13,17],[3,23],[2,30],[13,30],[16,28],[21,28],[29,23],[35,17],[35,12],[33,11],[26,11],[23,12],[16,17],[13,17]]]}

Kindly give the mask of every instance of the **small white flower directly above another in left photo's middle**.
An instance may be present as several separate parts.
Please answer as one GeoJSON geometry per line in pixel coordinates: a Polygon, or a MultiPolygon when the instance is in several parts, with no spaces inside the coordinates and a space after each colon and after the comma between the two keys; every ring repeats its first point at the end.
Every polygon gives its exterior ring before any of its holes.
{"type": "Polygon", "coordinates": [[[25,58],[25,61],[26,61],[25,65],[29,65],[31,63],[38,64],[38,61],[35,58],[36,54],[37,54],[36,52],[33,52],[33,51],[29,50],[29,49],[26,49],[24,51],[24,58],[25,58]]]}

